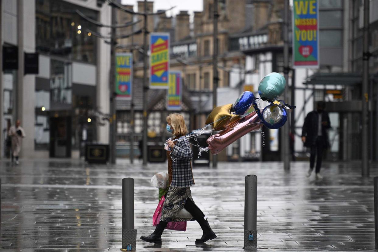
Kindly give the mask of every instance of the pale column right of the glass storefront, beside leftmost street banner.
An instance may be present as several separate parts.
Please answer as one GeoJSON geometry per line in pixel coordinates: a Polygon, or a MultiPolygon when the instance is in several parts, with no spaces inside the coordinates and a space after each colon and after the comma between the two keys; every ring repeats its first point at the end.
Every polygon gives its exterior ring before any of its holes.
{"type": "MultiPolygon", "coordinates": [[[[99,22],[110,24],[111,8],[109,5],[102,5],[101,12],[99,12],[99,22]]],[[[99,28],[101,34],[109,34],[110,28],[99,28]]],[[[109,102],[109,71],[110,71],[110,45],[106,44],[104,40],[97,39],[97,102],[98,109],[102,113],[108,114],[110,112],[109,102]]],[[[105,125],[97,127],[97,141],[102,144],[109,143],[109,122],[105,125]]]]}

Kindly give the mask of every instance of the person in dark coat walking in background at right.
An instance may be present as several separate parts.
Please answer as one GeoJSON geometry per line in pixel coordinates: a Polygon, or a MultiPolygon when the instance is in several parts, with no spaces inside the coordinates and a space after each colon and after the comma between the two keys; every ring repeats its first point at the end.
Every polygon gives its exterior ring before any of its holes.
{"type": "Polygon", "coordinates": [[[311,111],[307,114],[302,128],[302,142],[305,147],[310,148],[310,169],[307,172],[307,177],[311,176],[314,169],[316,158],[315,176],[317,179],[322,179],[320,175],[320,168],[322,165],[323,150],[328,147],[328,133],[327,130],[331,128],[330,118],[328,113],[324,111],[325,103],[320,101],[316,111],[311,111]]]}

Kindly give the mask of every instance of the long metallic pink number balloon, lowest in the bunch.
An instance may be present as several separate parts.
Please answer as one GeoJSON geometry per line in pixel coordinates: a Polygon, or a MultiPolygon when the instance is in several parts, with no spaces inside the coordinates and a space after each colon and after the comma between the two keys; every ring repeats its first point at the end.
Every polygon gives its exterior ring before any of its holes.
{"type": "Polygon", "coordinates": [[[257,130],[262,125],[260,122],[260,117],[254,111],[240,119],[232,128],[210,136],[206,142],[209,144],[211,153],[216,155],[248,132],[257,130]]]}

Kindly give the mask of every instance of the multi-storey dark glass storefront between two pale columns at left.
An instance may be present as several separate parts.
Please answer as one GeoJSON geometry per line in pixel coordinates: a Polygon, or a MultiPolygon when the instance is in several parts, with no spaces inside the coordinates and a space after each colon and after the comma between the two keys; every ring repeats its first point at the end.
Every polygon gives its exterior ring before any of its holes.
{"type": "Polygon", "coordinates": [[[86,141],[96,141],[96,118],[88,115],[96,108],[95,82],[79,78],[76,83],[74,65],[80,62],[82,74],[96,65],[97,38],[89,31],[97,26],[77,11],[93,20],[98,11],[63,0],[35,1],[36,51],[49,71],[36,77],[34,147],[50,150],[52,157],[69,157],[86,141]]]}

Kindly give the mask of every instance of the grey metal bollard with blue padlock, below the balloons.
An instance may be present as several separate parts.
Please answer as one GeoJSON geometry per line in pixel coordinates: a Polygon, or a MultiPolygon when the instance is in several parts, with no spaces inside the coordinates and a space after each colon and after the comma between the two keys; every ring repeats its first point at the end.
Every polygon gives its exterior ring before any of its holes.
{"type": "Polygon", "coordinates": [[[244,249],[257,249],[257,176],[245,176],[244,249]]]}

